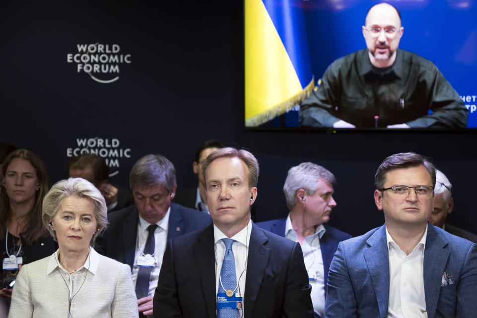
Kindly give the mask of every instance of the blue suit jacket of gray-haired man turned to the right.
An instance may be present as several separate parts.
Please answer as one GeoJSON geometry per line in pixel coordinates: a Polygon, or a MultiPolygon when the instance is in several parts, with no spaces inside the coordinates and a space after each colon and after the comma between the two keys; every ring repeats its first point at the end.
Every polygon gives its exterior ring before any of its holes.
{"type": "MultiPolygon", "coordinates": [[[[266,222],[259,222],[257,226],[260,228],[275,233],[281,237],[285,237],[285,228],[287,225],[287,218],[277,219],[266,222]]],[[[326,295],[326,284],[328,283],[329,264],[333,259],[334,252],[338,248],[338,243],[345,239],[350,239],[351,236],[347,233],[341,232],[338,229],[324,225],[326,230],[323,237],[319,239],[319,248],[321,249],[321,257],[323,258],[323,273],[324,273],[324,293],[326,295]]]]}

